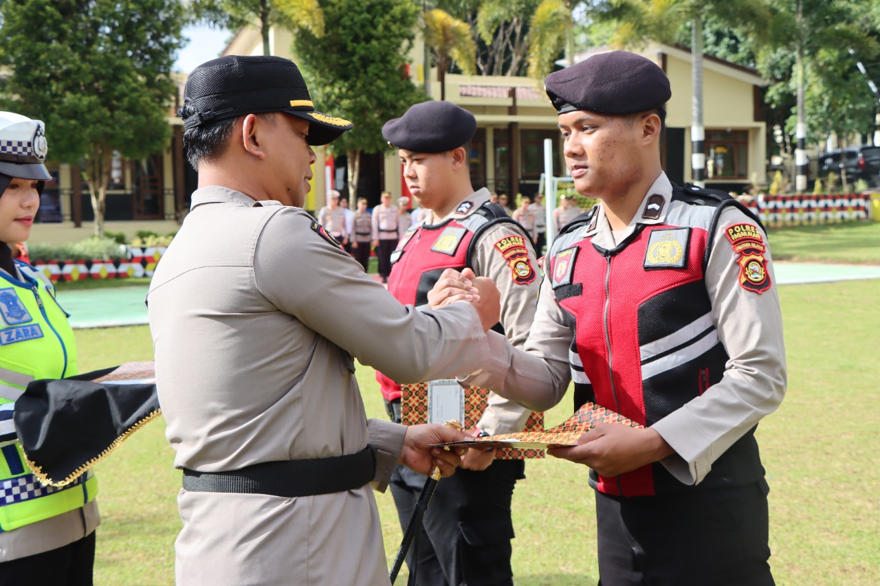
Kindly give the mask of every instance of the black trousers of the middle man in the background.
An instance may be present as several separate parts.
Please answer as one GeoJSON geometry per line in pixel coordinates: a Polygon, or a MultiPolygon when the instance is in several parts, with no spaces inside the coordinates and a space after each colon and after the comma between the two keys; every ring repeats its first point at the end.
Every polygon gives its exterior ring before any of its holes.
{"type": "MultiPolygon", "coordinates": [[[[510,500],[525,478],[522,460],[495,460],[486,470],[459,468],[437,483],[419,534],[418,586],[512,585],[510,500]]],[[[391,492],[407,530],[426,476],[398,465],[391,492]]],[[[407,554],[412,571],[412,550],[407,554]]]]}

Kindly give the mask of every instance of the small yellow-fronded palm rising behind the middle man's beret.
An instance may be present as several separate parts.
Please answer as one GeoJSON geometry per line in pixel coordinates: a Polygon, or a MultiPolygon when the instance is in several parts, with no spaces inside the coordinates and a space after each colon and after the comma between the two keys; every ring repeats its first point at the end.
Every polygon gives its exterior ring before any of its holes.
{"type": "MultiPolygon", "coordinates": [[[[446,71],[455,62],[466,75],[476,73],[477,45],[471,27],[452,17],[449,12],[435,8],[424,14],[422,35],[425,44],[434,51],[440,99],[446,99],[446,71]]],[[[427,75],[426,75],[427,77],[427,75]]]]}

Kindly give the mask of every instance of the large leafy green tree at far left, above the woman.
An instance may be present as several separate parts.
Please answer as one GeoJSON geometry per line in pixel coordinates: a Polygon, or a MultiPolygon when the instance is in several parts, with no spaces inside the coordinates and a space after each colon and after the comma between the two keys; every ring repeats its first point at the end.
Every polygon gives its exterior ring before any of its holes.
{"type": "Polygon", "coordinates": [[[84,163],[100,235],[114,151],[140,159],[168,142],[182,4],[15,0],[0,18],[3,106],[46,122],[51,159],[84,163]]]}

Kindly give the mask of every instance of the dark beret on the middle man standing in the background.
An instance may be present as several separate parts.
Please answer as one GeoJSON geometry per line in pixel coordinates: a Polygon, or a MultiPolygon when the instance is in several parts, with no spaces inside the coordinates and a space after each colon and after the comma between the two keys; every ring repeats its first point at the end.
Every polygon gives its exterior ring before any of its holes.
{"type": "Polygon", "coordinates": [[[413,152],[445,152],[471,140],[477,131],[473,114],[452,102],[429,101],[385,122],[382,136],[392,147],[413,152]]]}

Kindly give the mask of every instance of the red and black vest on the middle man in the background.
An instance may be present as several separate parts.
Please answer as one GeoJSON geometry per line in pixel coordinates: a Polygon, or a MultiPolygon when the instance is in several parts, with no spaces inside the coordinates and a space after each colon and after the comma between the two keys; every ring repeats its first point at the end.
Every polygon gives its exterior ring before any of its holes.
{"type": "MultiPolygon", "coordinates": [[[[473,249],[480,234],[498,223],[519,226],[501,206],[487,201],[460,220],[450,218],[433,225],[414,225],[392,253],[388,290],[401,304],[427,307],[428,293],[444,270],[473,268],[473,249]]],[[[524,245],[531,246],[528,238],[524,238],[524,245]]],[[[516,260],[510,262],[512,270],[516,271],[516,260]]],[[[529,267],[533,271],[531,264],[529,267]]],[[[514,275],[516,278],[516,272],[514,275]]],[[[535,275],[532,273],[524,278],[534,279],[535,275]]],[[[501,324],[492,329],[504,333],[501,324]]],[[[400,385],[380,373],[377,378],[386,400],[400,398],[400,385]]]]}

